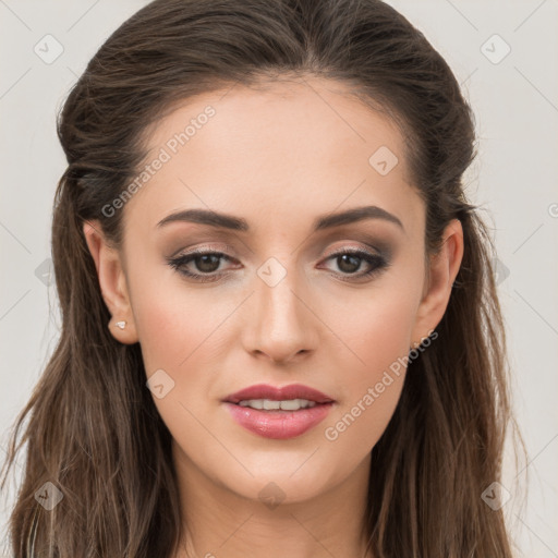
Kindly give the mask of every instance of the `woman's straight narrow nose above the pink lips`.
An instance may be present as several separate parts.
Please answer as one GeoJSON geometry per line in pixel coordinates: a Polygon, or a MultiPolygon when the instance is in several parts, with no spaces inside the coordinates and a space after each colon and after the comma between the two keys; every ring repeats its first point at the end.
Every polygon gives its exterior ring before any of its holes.
{"type": "Polygon", "coordinates": [[[299,360],[315,350],[319,319],[312,312],[307,291],[289,271],[270,286],[256,277],[243,328],[246,351],[278,364],[299,360]]]}

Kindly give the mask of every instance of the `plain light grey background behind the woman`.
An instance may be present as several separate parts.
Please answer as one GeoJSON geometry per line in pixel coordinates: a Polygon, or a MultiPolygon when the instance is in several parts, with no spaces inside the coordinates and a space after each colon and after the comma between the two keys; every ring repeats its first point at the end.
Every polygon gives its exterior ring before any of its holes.
{"type": "MultiPolygon", "coordinates": [[[[46,284],[52,198],[65,168],[54,114],[98,47],[146,3],[0,0],[2,449],[60,325],[53,284],[46,284]],[[51,63],[34,51],[56,53],[48,34],[63,48],[51,63]]],[[[529,500],[522,508],[513,492],[504,509],[526,556],[558,557],[558,2],[390,3],[447,59],[476,113],[480,157],[468,191],[485,207],[498,248],[514,407],[529,450],[520,466],[529,500]],[[499,60],[506,45],[511,51],[499,60]]],[[[511,487],[519,471],[509,454],[506,471],[511,487]]],[[[1,502],[0,556],[11,501],[1,502]]]]}

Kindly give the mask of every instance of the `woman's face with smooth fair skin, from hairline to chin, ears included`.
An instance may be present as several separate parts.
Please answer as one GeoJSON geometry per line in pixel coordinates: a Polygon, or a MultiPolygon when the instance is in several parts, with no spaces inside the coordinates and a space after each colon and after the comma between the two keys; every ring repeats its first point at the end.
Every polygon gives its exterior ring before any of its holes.
{"type": "Polygon", "coordinates": [[[96,262],[114,320],[128,322],[113,335],[141,343],[177,465],[246,498],[275,483],[300,501],[368,462],[403,357],[441,319],[459,239],[425,265],[425,207],[402,135],[342,85],[226,93],[158,123],[149,175],[119,209],[123,250],[100,242],[96,262]],[[314,400],[299,411],[225,401],[294,384],[329,402],[307,391],[278,396],[286,409],[314,400]]]}

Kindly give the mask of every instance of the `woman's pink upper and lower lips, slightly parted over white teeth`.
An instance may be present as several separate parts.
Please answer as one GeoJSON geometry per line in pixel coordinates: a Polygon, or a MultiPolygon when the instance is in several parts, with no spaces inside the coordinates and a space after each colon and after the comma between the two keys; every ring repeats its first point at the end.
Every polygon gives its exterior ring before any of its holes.
{"type": "Polygon", "coordinates": [[[301,436],[319,424],[328,415],[335,400],[302,384],[291,384],[282,388],[258,384],[232,393],[222,402],[232,418],[246,430],[264,438],[289,439],[301,436]],[[316,405],[299,411],[260,411],[238,404],[248,399],[307,399],[314,401],[316,405]]]}

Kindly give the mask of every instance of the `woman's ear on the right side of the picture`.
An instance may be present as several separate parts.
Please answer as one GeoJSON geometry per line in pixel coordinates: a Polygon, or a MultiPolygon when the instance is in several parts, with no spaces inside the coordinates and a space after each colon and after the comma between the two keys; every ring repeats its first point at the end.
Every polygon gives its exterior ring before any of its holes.
{"type": "Polygon", "coordinates": [[[411,338],[413,347],[418,345],[441,322],[462,258],[463,228],[459,219],[453,219],[444,231],[439,252],[430,256],[423,299],[411,338]]]}

